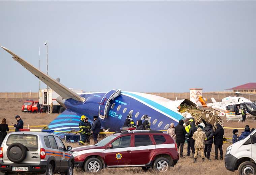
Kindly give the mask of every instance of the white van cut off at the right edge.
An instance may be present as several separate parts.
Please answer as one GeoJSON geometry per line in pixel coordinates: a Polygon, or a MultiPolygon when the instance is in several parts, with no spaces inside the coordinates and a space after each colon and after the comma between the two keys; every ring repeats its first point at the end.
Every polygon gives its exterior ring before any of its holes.
{"type": "Polygon", "coordinates": [[[238,170],[240,175],[256,174],[256,130],[244,140],[227,148],[225,167],[229,171],[238,170]]]}

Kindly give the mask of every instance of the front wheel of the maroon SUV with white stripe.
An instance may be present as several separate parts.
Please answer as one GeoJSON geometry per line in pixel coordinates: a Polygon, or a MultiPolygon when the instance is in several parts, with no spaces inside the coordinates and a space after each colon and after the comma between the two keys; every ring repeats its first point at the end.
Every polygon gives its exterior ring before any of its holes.
{"type": "Polygon", "coordinates": [[[102,169],[102,162],[98,158],[92,157],[85,162],[84,169],[88,173],[98,173],[102,169]]]}

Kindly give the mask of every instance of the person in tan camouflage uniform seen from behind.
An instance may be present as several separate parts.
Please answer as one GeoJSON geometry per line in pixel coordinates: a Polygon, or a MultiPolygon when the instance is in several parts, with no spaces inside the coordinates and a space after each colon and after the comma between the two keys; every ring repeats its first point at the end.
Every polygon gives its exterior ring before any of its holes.
{"type": "Polygon", "coordinates": [[[193,137],[195,140],[195,155],[194,155],[194,163],[196,163],[198,150],[201,151],[201,157],[204,161],[204,140],[206,139],[206,135],[203,132],[202,128],[198,127],[196,132],[194,132],[193,137]]]}

